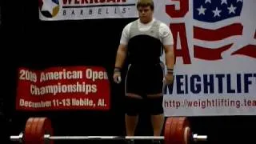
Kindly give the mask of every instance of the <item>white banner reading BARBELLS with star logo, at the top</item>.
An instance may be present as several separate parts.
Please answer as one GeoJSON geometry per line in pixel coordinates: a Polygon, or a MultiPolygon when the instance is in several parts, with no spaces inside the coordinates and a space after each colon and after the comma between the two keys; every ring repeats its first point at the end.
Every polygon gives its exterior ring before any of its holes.
{"type": "Polygon", "coordinates": [[[43,21],[137,18],[134,0],[39,0],[43,21]]]}

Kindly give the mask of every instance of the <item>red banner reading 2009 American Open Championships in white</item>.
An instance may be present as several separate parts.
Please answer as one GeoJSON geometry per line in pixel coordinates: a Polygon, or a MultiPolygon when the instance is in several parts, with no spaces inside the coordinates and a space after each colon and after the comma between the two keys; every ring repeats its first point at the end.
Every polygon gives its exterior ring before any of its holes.
{"type": "Polygon", "coordinates": [[[17,110],[109,110],[110,82],[98,66],[19,68],[17,110]]]}

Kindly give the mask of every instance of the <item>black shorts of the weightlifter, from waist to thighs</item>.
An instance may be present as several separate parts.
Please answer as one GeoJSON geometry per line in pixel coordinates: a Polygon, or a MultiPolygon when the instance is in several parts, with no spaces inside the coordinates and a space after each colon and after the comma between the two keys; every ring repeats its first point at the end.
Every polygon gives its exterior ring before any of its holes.
{"type": "Polygon", "coordinates": [[[126,94],[162,94],[163,67],[160,63],[151,66],[130,64],[126,74],[126,94]]]}

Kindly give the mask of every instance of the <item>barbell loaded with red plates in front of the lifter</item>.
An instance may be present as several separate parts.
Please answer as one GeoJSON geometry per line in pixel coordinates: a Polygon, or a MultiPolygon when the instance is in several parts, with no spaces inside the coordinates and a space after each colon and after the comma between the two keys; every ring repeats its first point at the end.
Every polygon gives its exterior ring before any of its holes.
{"type": "Polygon", "coordinates": [[[189,144],[206,141],[206,135],[193,134],[190,122],[186,117],[170,117],[166,119],[164,136],[53,136],[54,130],[50,118],[28,118],[24,132],[11,135],[14,142],[32,144],[54,144],[54,140],[164,140],[165,144],[189,144]]]}

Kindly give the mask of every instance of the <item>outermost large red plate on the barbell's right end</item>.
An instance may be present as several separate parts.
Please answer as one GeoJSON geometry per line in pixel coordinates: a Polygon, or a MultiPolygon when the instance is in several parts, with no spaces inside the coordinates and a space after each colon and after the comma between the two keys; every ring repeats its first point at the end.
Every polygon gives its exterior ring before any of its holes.
{"type": "Polygon", "coordinates": [[[185,137],[185,133],[189,132],[188,129],[186,129],[186,127],[190,128],[190,122],[186,117],[177,118],[177,121],[178,124],[176,125],[176,130],[174,134],[175,142],[177,144],[186,144],[186,139],[188,135],[186,134],[185,137]]]}

